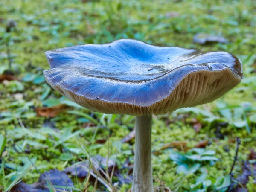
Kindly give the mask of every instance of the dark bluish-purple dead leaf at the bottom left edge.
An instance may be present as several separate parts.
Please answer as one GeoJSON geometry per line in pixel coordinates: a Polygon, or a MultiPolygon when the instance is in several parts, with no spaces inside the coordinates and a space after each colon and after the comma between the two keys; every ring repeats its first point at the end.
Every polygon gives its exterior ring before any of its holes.
{"type": "Polygon", "coordinates": [[[42,173],[38,179],[38,182],[33,184],[26,184],[20,182],[15,185],[10,192],[49,192],[47,181],[52,183],[56,191],[68,190],[72,191],[74,187],[73,181],[64,173],[60,172],[58,169],[50,170],[49,172],[42,173]],[[46,176],[47,175],[47,176],[46,176]],[[62,187],[61,187],[62,186],[62,187]]]}

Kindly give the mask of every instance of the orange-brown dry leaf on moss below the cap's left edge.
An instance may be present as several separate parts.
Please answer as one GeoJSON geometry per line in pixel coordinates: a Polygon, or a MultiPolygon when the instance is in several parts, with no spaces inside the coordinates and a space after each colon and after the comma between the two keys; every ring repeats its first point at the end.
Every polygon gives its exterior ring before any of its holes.
{"type": "Polygon", "coordinates": [[[53,107],[35,108],[35,111],[38,116],[55,117],[66,108],[67,108],[67,105],[61,104],[53,107]]]}

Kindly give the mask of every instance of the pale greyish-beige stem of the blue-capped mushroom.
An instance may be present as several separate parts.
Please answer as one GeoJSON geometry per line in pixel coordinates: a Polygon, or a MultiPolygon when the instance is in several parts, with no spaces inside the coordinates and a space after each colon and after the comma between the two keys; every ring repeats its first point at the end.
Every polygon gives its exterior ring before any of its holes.
{"type": "Polygon", "coordinates": [[[132,192],[154,192],[151,167],[152,115],[136,116],[132,192]]]}

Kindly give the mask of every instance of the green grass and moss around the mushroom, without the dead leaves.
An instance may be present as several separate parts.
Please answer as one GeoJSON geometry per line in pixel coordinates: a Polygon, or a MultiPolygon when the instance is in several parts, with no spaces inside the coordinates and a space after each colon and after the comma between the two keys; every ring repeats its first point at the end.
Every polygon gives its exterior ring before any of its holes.
{"type": "MultiPolygon", "coordinates": [[[[189,148],[202,140],[211,142],[206,150],[215,151],[214,157],[220,161],[201,163],[201,167],[207,170],[203,181],[210,180],[210,187],[214,187],[216,180],[229,174],[236,146],[232,141],[240,137],[238,161],[233,174],[235,178],[241,175],[243,161],[247,160],[250,149],[256,146],[255,11],[256,2],[252,0],[1,1],[0,73],[8,68],[8,41],[12,71],[22,80],[0,83],[0,134],[6,138],[3,149],[6,152],[1,165],[16,165],[13,169],[9,169],[10,166],[3,169],[1,166],[0,191],[10,188],[13,181],[21,178],[26,183],[38,180],[40,174],[33,166],[22,163],[22,157],[35,160],[35,166],[41,173],[50,169],[63,170],[78,162],[79,157],[85,158],[87,155],[82,146],[90,156],[100,154],[115,160],[119,169],[127,159],[132,161],[134,140],[123,144],[119,141],[133,128],[134,117],[102,115],[74,106],[50,89],[42,76],[43,69],[49,68],[44,56],[49,49],[76,44],[103,44],[120,38],[202,51],[223,50],[233,53],[243,62],[245,76],[239,86],[217,101],[192,108],[192,111],[180,110],[169,115],[154,116],[152,128],[153,150],[173,141],[186,141],[189,148]],[[177,17],[166,16],[174,11],[179,13],[177,17]],[[15,20],[17,26],[6,33],[9,20],[15,20]],[[193,37],[199,32],[222,35],[229,42],[194,44],[193,37]],[[17,93],[22,93],[23,99],[17,99],[17,93]],[[35,107],[60,103],[68,104],[69,108],[54,118],[40,117],[35,113],[35,107]],[[225,105],[225,109],[222,105],[225,105]],[[200,113],[197,109],[204,111],[200,113]],[[209,112],[211,116],[207,116],[209,112]],[[215,121],[211,122],[212,116],[215,121]],[[195,118],[202,125],[198,133],[192,125],[195,118]],[[84,122],[91,122],[92,126],[85,129],[84,122]],[[223,125],[219,122],[229,123],[223,125]],[[99,144],[97,140],[106,142],[99,144]],[[70,151],[75,152],[72,154],[70,151]],[[23,172],[15,170],[17,166],[23,166],[23,172]],[[9,174],[14,176],[7,177],[9,174]]],[[[198,188],[191,189],[204,169],[185,176],[177,174],[178,166],[169,158],[172,151],[167,149],[162,152],[153,156],[155,186],[166,186],[177,192],[207,188],[201,183],[198,188]]],[[[180,153],[183,154],[182,149],[180,153]]],[[[126,171],[124,169],[122,175],[125,176],[126,171]]],[[[87,182],[77,177],[71,178],[76,189],[86,189],[87,182]]],[[[113,177],[115,182],[118,182],[118,178],[113,177]]],[[[93,186],[89,187],[90,191],[93,191],[93,186]]],[[[122,192],[129,187],[129,184],[119,185],[118,189],[122,192]]],[[[96,188],[98,191],[104,189],[103,185],[96,188]]],[[[247,189],[255,191],[253,178],[247,184],[247,189]]]]}

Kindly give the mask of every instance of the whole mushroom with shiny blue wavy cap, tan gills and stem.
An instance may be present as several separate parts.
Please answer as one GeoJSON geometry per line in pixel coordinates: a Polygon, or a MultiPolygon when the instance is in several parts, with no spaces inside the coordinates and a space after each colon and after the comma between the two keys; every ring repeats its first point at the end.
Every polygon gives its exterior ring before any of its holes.
{"type": "Polygon", "coordinates": [[[212,102],[243,77],[241,62],[230,53],[130,39],[45,54],[45,79],[63,96],[92,111],[136,116],[132,192],[153,192],[152,114],[212,102]]]}

